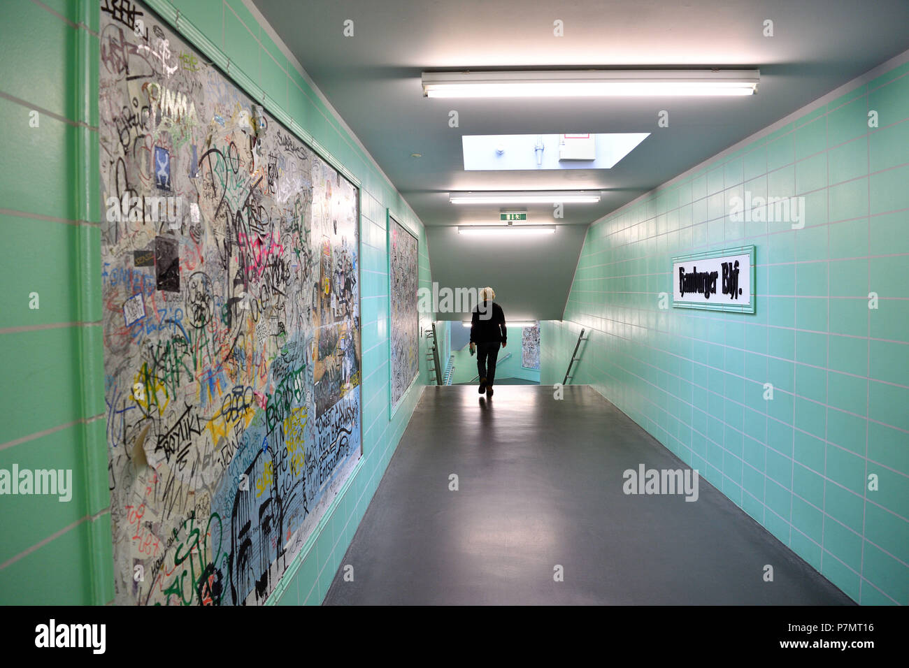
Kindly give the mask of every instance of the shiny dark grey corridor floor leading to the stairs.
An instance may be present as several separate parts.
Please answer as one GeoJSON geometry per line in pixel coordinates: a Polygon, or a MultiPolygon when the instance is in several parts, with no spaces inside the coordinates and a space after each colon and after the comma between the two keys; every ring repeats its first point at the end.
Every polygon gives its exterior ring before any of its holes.
{"type": "Polygon", "coordinates": [[[703,478],[624,494],[684,464],[593,389],[495,389],[425,389],[325,604],[852,603],[703,478]]]}

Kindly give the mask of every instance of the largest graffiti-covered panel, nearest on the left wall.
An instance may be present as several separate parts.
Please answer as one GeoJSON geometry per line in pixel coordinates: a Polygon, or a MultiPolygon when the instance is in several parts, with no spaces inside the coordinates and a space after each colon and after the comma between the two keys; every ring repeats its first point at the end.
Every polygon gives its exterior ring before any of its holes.
{"type": "Polygon", "coordinates": [[[115,603],[261,604],[361,455],[359,190],[147,8],[115,6],[99,28],[115,603]]]}

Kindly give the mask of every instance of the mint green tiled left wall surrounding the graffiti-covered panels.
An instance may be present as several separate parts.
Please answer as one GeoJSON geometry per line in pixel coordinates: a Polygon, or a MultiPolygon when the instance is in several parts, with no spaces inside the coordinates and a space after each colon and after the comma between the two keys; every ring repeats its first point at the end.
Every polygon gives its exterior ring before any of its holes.
{"type": "MultiPolygon", "coordinates": [[[[430,286],[423,225],[240,0],[154,1],[168,23],[269,113],[293,119],[320,153],[362,184],[364,456],[269,600],[321,603],[429,382],[389,420],[385,209],[419,231],[419,284],[430,286]]],[[[69,503],[0,497],[0,603],[106,603],[113,563],[105,444],[97,165],[98,2],[0,3],[0,468],[70,468],[69,503]],[[40,84],[40,85],[36,85],[40,84]],[[31,111],[38,126],[31,127],[31,111]],[[13,243],[15,242],[15,243],[13,243]],[[30,294],[39,294],[30,309],[30,294]]],[[[428,317],[421,326],[429,324],[428,317]]]]}

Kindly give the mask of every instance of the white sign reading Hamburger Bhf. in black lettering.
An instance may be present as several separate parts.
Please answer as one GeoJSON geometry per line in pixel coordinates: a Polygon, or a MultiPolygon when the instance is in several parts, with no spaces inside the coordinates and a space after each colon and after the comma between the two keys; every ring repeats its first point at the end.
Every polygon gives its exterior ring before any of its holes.
{"type": "Polygon", "coordinates": [[[673,306],[754,313],[754,245],[677,255],[673,306]]]}

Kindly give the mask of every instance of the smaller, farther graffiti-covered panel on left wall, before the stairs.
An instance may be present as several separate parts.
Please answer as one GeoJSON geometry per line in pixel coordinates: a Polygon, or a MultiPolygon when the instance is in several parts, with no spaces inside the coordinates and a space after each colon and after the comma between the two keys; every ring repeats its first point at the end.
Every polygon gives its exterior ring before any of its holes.
{"type": "Polygon", "coordinates": [[[391,284],[391,385],[394,412],[419,373],[420,316],[416,283],[416,237],[388,216],[389,283],[391,284]]]}

